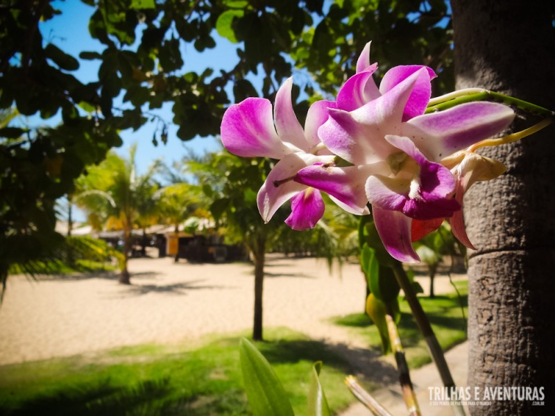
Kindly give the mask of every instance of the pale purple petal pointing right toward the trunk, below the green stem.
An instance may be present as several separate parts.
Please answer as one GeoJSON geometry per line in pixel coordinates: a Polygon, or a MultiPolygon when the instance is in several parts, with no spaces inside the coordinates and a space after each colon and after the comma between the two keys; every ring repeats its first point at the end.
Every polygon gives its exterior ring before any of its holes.
{"type": "Polygon", "coordinates": [[[466,103],[449,110],[417,116],[403,123],[402,136],[434,162],[501,132],[515,113],[497,103],[466,103]]]}

